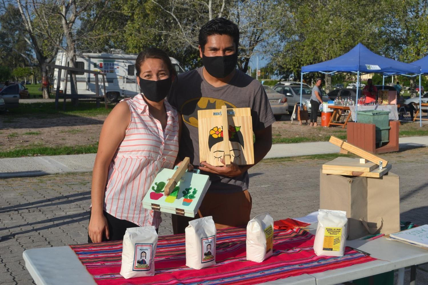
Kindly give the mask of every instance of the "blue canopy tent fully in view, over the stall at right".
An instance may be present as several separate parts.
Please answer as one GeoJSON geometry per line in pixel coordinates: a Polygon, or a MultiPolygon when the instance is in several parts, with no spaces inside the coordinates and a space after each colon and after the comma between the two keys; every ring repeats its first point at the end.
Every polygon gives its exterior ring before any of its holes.
{"type": "MultiPolygon", "coordinates": [[[[300,82],[303,82],[303,74],[309,72],[321,72],[334,75],[339,72],[357,73],[357,86],[360,86],[360,75],[366,73],[381,73],[384,76],[391,76],[395,74],[419,74],[421,73],[420,66],[399,62],[393,59],[379,56],[373,53],[363,44],[357,44],[348,53],[335,59],[327,60],[313,65],[306,65],[302,67],[302,75],[300,82]]],[[[410,76],[410,75],[409,75],[410,76]]],[[[419,79],[420,80],[420,79],[419,79]]],[[[300,84],[303,89],[303,84],[300,84]]],[[[300,105],[302,103],[302,92],[300,92],[300,105]]],[[[357,102],[360,93],[360,88],[357,88],[357,102]]],[[[357,107],[356,107],[357,108],[357,107]]],[[[357,116],[355,116],[357,118],[357,116]]]]}

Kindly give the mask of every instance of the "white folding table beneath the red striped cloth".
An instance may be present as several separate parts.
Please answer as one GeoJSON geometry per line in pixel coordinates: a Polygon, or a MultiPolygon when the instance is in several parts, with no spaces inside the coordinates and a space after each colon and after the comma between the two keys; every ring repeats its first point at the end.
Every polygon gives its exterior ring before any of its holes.
{"type": "MultiPolygon", "coordinates": [[[[428,250],[398,241],[389,241],[386,238],[377,238],[369,242],[347,241],[346,245],[370,253],[377,260],[262,284],[334,285],[428,262],[428,250]]],[[[23,256],[27,270],[38,285],[95,284],[92,276],[70,247],[29,249],[24,251],[23,256]]]]}

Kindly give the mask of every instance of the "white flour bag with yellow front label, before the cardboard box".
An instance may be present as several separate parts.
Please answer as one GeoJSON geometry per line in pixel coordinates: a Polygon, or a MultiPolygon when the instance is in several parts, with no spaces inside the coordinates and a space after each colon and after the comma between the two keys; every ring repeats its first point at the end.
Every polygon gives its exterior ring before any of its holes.
{"type": "Polygon", "coordinates": [[[317,256],[343,256],[346,244],[346,212],[318,210],[314,251],[317,256]]]}

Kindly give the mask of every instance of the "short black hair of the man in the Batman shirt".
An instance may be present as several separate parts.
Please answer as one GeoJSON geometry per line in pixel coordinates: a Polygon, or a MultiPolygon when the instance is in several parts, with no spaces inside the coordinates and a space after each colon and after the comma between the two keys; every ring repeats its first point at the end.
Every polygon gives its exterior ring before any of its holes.
{"type": "Polygon", "coordinates": [[[202,52],[205,50],[205,44],[207,44],[208,36],[210,35],[231,36],[236,45],[236,52],[238,53],[239,28],[236,24],[232,23],[232,21],[225,18],[215,18],[202,26],[199,30],[199,45],[201,46],[202,52]]]}

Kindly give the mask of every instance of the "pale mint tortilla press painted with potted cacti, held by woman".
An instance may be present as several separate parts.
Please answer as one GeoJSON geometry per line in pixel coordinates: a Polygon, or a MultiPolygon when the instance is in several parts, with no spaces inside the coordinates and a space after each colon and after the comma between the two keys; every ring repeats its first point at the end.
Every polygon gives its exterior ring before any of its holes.
{"type": "MultiPolygon", "coordinates": [[[[187,165],[185,163],[184,165],[187,165]]],[[[155,211],[194,217],[201,206],[202,199],[211,184],[208,175],[199,174],[199,170],[180,173],[179,167],[174,170],[162,168],[143,198],[143,207],[155,211]],[[177,177],[177,182],[170,181],[177,177]]]]}

